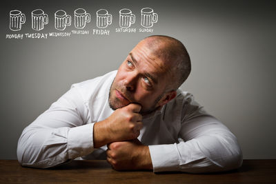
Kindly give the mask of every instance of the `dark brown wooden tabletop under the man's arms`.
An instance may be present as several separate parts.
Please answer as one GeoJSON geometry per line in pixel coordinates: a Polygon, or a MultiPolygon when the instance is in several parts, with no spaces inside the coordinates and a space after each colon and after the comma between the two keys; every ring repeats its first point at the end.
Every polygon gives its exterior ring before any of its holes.
{"type": "Polygon", "coordinates": [[[238,170],[217,174],[117,172],[106,161],[72,161],[42,170],[0,160],[0,183],[276,183],[276,160],[244,160],[238,170]]]}

